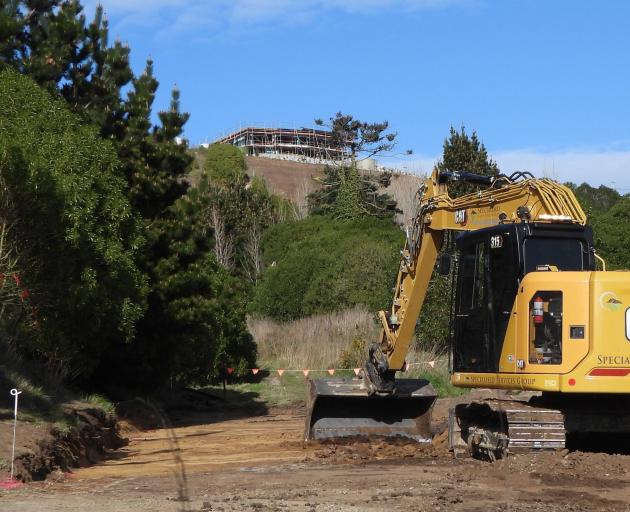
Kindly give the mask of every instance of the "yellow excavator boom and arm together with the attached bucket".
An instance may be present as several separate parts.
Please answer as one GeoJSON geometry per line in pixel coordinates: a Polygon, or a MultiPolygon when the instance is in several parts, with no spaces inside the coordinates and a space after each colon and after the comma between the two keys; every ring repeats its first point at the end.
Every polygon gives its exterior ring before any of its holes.
{"type": "Polygon", "coordinates": [[[383,329],[380,340],[369,349],[363,379],[309,382],[307,440],[356,435],[430,439],[435,391],[426,380],[395,379],[395,374],[404,368],[447,231],[527,221],[586,222],[571,190],[529,173],[488,177],[435,170],[419,198],[414,221],[406,231],[392,306],[379,312],[383,329]],[[452,198],[447,188],[451,182],[471,183],[480,189],[452,198]]]}

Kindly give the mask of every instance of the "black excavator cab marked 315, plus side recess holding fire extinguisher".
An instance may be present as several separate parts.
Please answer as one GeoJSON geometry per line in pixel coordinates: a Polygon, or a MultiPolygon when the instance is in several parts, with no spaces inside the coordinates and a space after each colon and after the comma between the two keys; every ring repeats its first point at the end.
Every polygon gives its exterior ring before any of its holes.
{"type": "MultiPolygon", "coordinates": [[[[502,371],[503,345],[523,278],[531,272],[593,270],[592,246],[591,228],[576,224],[503,224],[460,235],[453,370],[502,371]]],[[[539,295],[540,322],[534,324],[532,343],[541,360],[553,363],[562,357],[560,337],[554,335],[562,318],[562,294],[550,290],[539,295]]]]}

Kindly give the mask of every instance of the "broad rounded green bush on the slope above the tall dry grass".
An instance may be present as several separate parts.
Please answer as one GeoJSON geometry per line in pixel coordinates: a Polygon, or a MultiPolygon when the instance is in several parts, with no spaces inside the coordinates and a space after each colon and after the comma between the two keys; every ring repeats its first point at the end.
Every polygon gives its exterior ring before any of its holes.
{"type": "Polygon", "coordinates": [[[358,304],[387,307],[403,240],[391,220],[313,216],[273,226],[252,311],[291,320],[358,304]]]}

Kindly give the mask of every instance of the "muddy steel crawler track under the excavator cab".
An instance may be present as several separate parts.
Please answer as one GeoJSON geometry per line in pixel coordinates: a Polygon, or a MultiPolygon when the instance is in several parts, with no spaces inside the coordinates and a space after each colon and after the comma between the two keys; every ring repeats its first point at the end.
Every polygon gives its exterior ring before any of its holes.
{"type": "Polygon", "coordinates": [[[565,447],[564,415],[518,400],[482,400],[449,411],[449,446],[456,456],[491,460],[508,453],[565,447]]]}

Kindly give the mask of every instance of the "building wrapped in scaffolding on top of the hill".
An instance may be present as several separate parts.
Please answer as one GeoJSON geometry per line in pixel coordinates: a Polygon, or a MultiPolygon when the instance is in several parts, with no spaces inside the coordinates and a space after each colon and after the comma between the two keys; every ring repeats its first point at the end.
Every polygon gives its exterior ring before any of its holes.
{"type": "Polygon", "coordinates": [[[263,156],[322,163],[343,160],[345,148],[333,141],[331,132],[311,128],[247,127],[217,139],[218,144],[243,148],[248,156],[263,156]]]}

